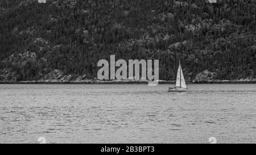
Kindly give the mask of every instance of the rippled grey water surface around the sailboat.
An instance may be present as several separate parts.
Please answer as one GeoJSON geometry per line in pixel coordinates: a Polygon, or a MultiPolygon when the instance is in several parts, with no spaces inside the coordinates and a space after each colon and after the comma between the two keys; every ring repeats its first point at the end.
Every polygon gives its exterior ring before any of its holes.
{"type": "Polygon", "coordinates": [[[256,143],[255,84],[0,85],[0,143],[256,143]]]}

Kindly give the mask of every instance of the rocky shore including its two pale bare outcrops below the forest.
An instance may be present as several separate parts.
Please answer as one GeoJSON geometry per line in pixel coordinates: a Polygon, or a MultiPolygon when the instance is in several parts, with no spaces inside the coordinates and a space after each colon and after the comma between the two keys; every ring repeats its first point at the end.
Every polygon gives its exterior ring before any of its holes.
{"type": "MultiPolygon", "coordinates": [[[[241,78],[236,80],[220,80],[217,79],[217,73],[204,70],[196,75],[192,81],[186,81],[187,83],[256,83],[256,78],[241,78]]],[[[87,79],[86,75],[73,77],[72,75],[64,75],[61,70],[53,70],[53,72],[44,76],[44,78],[38,81],[14,81],[6,80],[0,81],[0,84],[135,84],[135,83],[148,83],[149,81],[144,79],[139,80],[108,80],[101,81],[96,78],[87,79]]],[[[159,84],[175,84],[176,81],[164,81],[159,80],[159,84]]]]}

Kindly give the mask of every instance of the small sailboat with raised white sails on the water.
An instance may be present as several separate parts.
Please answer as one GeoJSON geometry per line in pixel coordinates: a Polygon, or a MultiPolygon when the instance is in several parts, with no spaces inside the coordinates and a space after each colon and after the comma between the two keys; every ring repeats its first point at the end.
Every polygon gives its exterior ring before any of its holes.
{"type": "Polygon", "coordinates": [[[176,87],[169,87],[168,91],[187,91],[187,85],[183,76],[181,65],[179,65],[179,69],[177,70],[176,87]]]}

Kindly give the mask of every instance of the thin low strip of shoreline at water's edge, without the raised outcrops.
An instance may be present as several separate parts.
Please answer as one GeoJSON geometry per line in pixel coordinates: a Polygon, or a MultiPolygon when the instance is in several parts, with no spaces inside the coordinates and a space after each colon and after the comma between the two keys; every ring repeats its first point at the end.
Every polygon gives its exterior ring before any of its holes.
{"type": "MultiPolygon", "coordinates": [[[[59,85],[59,84],[70,84],[70,85],[88,85],[88,84],[147,84],[148,81],[94,81],[94,80],[86,80],[86,81],[18,81],[18,82],[11,82],[11,81],[0,81],[1,84],[47,84],[47,85],[59,85]]],[[[159,81],[159,84],[175,84],[176,81],[159,81]]],[[[187,82],[187,84],[253,84],[256,81],[207,81],[207,82],[187,82]]]]}

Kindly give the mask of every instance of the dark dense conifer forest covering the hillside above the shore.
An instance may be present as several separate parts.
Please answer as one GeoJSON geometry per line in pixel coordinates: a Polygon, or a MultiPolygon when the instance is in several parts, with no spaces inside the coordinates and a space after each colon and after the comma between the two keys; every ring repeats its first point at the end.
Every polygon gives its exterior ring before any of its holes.
{"type": "Polygon", "coordinates": [[[102,58],[158,59],[159,78],[256,78],[256,1],[0,1],[0,81],[61,70],[97,77],[102,58]]]}

